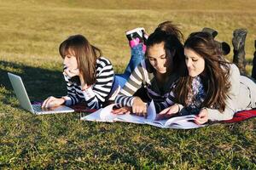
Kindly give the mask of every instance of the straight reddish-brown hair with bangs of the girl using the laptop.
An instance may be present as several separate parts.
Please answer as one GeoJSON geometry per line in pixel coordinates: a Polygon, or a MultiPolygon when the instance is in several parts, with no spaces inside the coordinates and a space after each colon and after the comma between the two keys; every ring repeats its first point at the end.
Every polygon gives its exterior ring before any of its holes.
{"type": "Polygon", "coordinates": [[[78,61],[79,71],[84,77],[84,82],[87,85],[94,84],[96,82],[96,59],[102,56],[102,51],[91,45],[82,35],[74,35],[61,42],[59,52],[62,59],[70,50],[74,52],[78,61]]]}

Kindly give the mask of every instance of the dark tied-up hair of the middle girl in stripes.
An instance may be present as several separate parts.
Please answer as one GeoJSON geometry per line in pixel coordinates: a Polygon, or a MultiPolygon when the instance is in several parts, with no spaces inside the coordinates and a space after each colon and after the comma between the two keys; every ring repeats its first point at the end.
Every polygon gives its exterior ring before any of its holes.
{"type": "MultiPolygon", "coordinates": [[[[177,28],[176,25],[172,24],[172,21],[165,21],[160,23],[159,26],[154,30],[152,34],[149,35],[146,42],[146,64],[149,72],[153,72],[154,68],[150,65],[148,61],[148,47],[154,46],[154,44],[159,44],[164,42],[164,48],[166,50],[166,57],[170,57],[171,54],[174,54],[173,59],[170,61],[173,64],[172,71],[181,72],[185,68],[184,63],[184,52],[183,52],[183,34],[177,28]]],[[[172,74],[172,73],[171,73],[172,74]]]]}

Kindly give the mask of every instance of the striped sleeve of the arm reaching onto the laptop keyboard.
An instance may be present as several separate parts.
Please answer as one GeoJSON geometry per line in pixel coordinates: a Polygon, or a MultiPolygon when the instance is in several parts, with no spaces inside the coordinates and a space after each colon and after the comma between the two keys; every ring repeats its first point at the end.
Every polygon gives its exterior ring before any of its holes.
{"type": "Polygon", "coordinates": [[[64,79],[67,85],[67,96],[65,98],[65,105],[76,105],[80,102],[79,96],[76,94],[74,84],[70,82],[70,78],[64,75],[64,79]]]}

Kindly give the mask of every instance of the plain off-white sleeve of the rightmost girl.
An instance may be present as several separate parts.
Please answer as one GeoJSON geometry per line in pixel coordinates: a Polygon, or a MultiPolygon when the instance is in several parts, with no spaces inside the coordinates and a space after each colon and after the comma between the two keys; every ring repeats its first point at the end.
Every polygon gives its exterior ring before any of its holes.
{"type": "Polygon", "coordinates": [[[240,88],[240,71],[236,65],[230,65],[230,92],[226,100],[224,112],[215,109],[206,108],[208,111],[209,120],[223,121],[232,119],[236,112],[236,99],[238,98],[240,88]]]}

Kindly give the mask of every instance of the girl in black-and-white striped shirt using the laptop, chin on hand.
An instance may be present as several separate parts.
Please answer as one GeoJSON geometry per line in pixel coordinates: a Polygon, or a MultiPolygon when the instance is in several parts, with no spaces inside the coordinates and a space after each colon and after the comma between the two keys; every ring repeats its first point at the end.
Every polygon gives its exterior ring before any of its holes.
{"type": "Polygon", "coordinates": [[[64,64],[67,95],[61,98],[50,96],[42,107],[85,102],[89,109],[100,108],[113,86],[113,65],[82,35],[61,42],[59,52],[64,64]]]}

